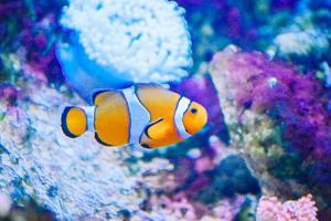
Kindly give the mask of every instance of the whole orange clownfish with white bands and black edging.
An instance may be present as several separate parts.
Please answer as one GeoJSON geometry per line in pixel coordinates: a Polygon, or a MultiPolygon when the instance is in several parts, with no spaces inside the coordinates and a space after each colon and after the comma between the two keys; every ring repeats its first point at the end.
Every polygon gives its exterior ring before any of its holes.
{"type": "Polygon", "coordinates": [[[62,130],[66,136],[76,138],[93,130],[105,146],[157,148],[191,137],[207,122],[202,105],[157,84],[99,91],[93,103],[88,107],[65,107],[62,130]]]}

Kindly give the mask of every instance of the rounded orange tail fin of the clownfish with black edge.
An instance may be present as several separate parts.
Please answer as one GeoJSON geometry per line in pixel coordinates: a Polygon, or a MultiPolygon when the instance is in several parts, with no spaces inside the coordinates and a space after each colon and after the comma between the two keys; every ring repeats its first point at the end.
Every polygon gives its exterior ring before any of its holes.
{"type": "Polygon", "coordinates": [[[61,118],[61,126],[66,136],[71,138],[79,137],[87,130],[85,110],[79,107],[65,107],[61,118]]]}

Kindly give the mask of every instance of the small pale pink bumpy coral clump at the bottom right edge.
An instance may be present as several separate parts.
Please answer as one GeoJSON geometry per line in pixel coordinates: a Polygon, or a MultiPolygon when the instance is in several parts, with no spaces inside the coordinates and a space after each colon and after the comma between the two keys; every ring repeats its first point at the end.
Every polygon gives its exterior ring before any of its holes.
{"type": "Polygon", "coordinates": [[[316,202],[311,194],[297,201],[281,203],[277,197],[261,197],[257,211],[257,221],[317,221],[316,202]]]}

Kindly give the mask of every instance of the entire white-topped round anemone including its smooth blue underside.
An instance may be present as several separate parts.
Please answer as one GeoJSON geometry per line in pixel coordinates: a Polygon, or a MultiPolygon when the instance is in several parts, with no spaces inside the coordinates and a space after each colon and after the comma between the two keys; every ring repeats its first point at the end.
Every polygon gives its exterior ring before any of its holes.
{"type": "Polygon", "coordinates": [[[74,31],[71,44],[57,49],[67,80],[86,97],[96,88],[188,76],[191,40],[183,13],[168,0],[71,1],[61,20],[74,31]]]}

